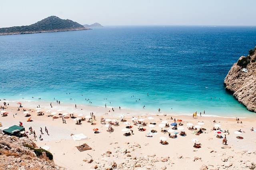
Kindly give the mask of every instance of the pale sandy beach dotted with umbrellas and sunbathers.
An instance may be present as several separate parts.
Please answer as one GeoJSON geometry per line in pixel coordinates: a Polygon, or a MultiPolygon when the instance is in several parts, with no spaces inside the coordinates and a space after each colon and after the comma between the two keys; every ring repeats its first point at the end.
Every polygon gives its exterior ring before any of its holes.
{"type": "MultiPolygon", "coordinates": [[[[10,125],[18,125],[21,121],[26,131],[32,127],[35,130],[37,138],[36,144],[40,147],[49,146],[49,151],[54,155],[54,162],[58,166],[70,170],[78,169],[110,169],[112,167],[116,169],[242,169],[255,165],[256,157],[256,131],[251,131],[252,127],[255,128],[255,118],[239,118],[237,123],[236,118],[224,118],[224,117],[209,117],[206,115],[199,115],[195,118],[185,115],[165,115],[166,113],[158,113],[152,111],[149,115],[147,112],[136,111],[132,109],[122,109],[105,107],[93,107],[77,105],[77,108],[71,104],[56,104],[52,103],[52,108],[49,103],[46,102],[22,102],[22,108],[17,111],[17,102],[8,102],[7,109],[8,116],[0,117],[3,129],[10,125]],[[40,110],[44,113],[43,116],[37,116],[36,107],[40,105],[40,110]],[[32,122],[27,122],[22,109],[26,109],[31,114],[32,122]],[[46,113],[50,110],[51,112],[46,113]],[[59,111],[58,111],[59,110],[59,111]],[[60,111],[62,110],[62,111],[60,111]],[[108,112],[110,110],[110,112],[108,112]],[[76,125],[74,119],[68,118],[66,124],[62,123],[62,118],[58,113],[69,113],[73,111],[74,116],[83,114],[82,117],[90,115],[93,112],[96,116],[96,121],[93,121],[95,125],[82,121],[81,125],[76,125]],[[54,116],[60,117],[53,119],[48,117],[50,113],[56,112],[54,116]],[[132,126],[133,133],[131,136],[124,136],[126,126],[124,122],[121,122],[119,115],[124,115],[126,123],[129,122],[132,126]],[[145,131],[139,131],[137,125],[132,122],[132,117],[138,117],[138,119],[144,119],[147,125],[144,126],[145,131]],[[153,117],[150,120],[148,117],[153,117]],[[161,132],[159,125],[162,121],[167,121],[167,124],[174,123],[173,119],[182,120],[182,126],[184,130],[174,130],[174,132],[185,131],[186,136],[177,134],[177,138],[169,138],[168,132],[161,132]],[[113,132],[107,132],[106,125],[100,123],[100,119],[116,119],[119,122],[118,126],[112,126],[113,132]],[[216,120],[216,123],[213,121],[216,120]],[[156,123],[155,127],[149,127],[150,122],[156,123]],[[192,123],[193,126],[200,123],[203,133],[196,134],[199,130],[188,130],[187,124],[192,123]],[[223,137],[226,134],[227,145],[222,144],[223,138],[216,138],[216,131],[212,130],[214,125],[220,125],[220,135],[223,137]],[[40,127],[43,129],[42,138],[39,140],[40,127]],[[49,135],[46,134],[44,128],[47,127],[49,135]],[[94,128],[98,128],[99,134],[94,133],[94,128]],[[146,134],[150,133],[150,130],[157,130],[152,134],[152,137],[146,137],[146,134]],[[242,131],[240,134],[237,130],[242,131]],[[225,130],[229,131],[229,134],[225,130]],[[80,134],[88,136],[87,140],[74,141],[71,134],[80,134]],[[243,139],[238,139],[236,136],[242,136],[243,139]],[[167,145],[160,144],[160,137],[167,138],[167,145]],[[192,139],[197,139],[197,144],[201,144],[201,148],[194,148],[195,142],[192,139]],[[86,150],[80,152],[75,146],[82,143],[88,144],[92,150],[86,150]],[[90,159],[93,159],[91,163],[88,163],[90,159]],[[115,162],[115,163],[113,163],[115,162]],[[205,165],[205,166],[204,166],[205,165]]],[[[2,102],[1,102],[2,104],[2,102]]],[[[2,109],[1,109],[2,111],[2,109]]],[[[66,115],[66,116],[69,116],[66,115]]],[[[135,121],[138,121],[136,119],[135,121]]],[[[177,121],[177,123],[179,123],[177,121]]],[[[165,130],[171,129],[162,128],[165,130]]],[[[179,129],[182,129],[179,128],[179,129]]],[[[216,127],[217,128],[217,127],[216,127]]],[[[128,129],[128,130],[130,130],[128,129]]],[[[128,131],[129,132],[129,131],[128,131]]],[[[171,135],[174,135],[172,132],[171,135]]],[[[29,138],[34,140],[33,134],[28,133],[29,138]]]]}

